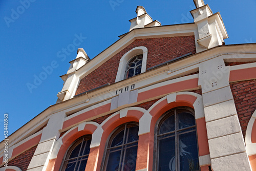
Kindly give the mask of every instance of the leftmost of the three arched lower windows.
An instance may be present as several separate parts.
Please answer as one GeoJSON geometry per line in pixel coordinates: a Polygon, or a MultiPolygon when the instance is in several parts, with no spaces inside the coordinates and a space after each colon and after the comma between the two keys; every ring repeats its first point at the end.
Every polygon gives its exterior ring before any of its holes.
{"type": "Polygon", "coordinates": [[[62,162],[65,171],[85,170],[90,153],[91,136],[83,136],[77,139],[68,149],[62,162]]]}

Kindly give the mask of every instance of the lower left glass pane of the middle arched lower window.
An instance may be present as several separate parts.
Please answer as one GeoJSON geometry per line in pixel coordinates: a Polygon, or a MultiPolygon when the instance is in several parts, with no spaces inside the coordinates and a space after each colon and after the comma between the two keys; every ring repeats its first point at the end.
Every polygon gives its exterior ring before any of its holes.
{"type": "Polygon", "coordinates": [[[121,150],[109,153],[108,166],[106,167],[107,171],[109,171],[109,170],[117,171],[118,170],[120,155],[121,155],[121,150]]]}

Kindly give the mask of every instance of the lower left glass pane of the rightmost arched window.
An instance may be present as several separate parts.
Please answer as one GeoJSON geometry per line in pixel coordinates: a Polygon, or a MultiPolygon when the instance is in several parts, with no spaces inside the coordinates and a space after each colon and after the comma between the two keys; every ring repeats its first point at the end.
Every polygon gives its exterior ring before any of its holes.
{"type": "Polygon", "coordinates": [[[159,140],[158,170],[175,170],[175,137],[159,140]]]}

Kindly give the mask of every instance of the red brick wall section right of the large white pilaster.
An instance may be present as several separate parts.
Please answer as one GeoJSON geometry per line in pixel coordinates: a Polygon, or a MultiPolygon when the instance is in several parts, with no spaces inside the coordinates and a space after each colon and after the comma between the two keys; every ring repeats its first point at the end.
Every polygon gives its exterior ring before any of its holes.
{"type": "Polygon", "coordinates": [[[256,110],[256,80],[230,83],[230,88],[245,137],[248,122],[256,110]]]}

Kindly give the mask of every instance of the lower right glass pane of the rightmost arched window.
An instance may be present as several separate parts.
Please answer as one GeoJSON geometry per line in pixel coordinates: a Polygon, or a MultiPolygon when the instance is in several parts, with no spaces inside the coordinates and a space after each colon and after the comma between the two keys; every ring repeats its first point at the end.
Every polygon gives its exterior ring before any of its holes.
{"type": "Polygon", "coordinates": [[[199,170],[196,131],[179,135],[180,170],[199,170]]]}

